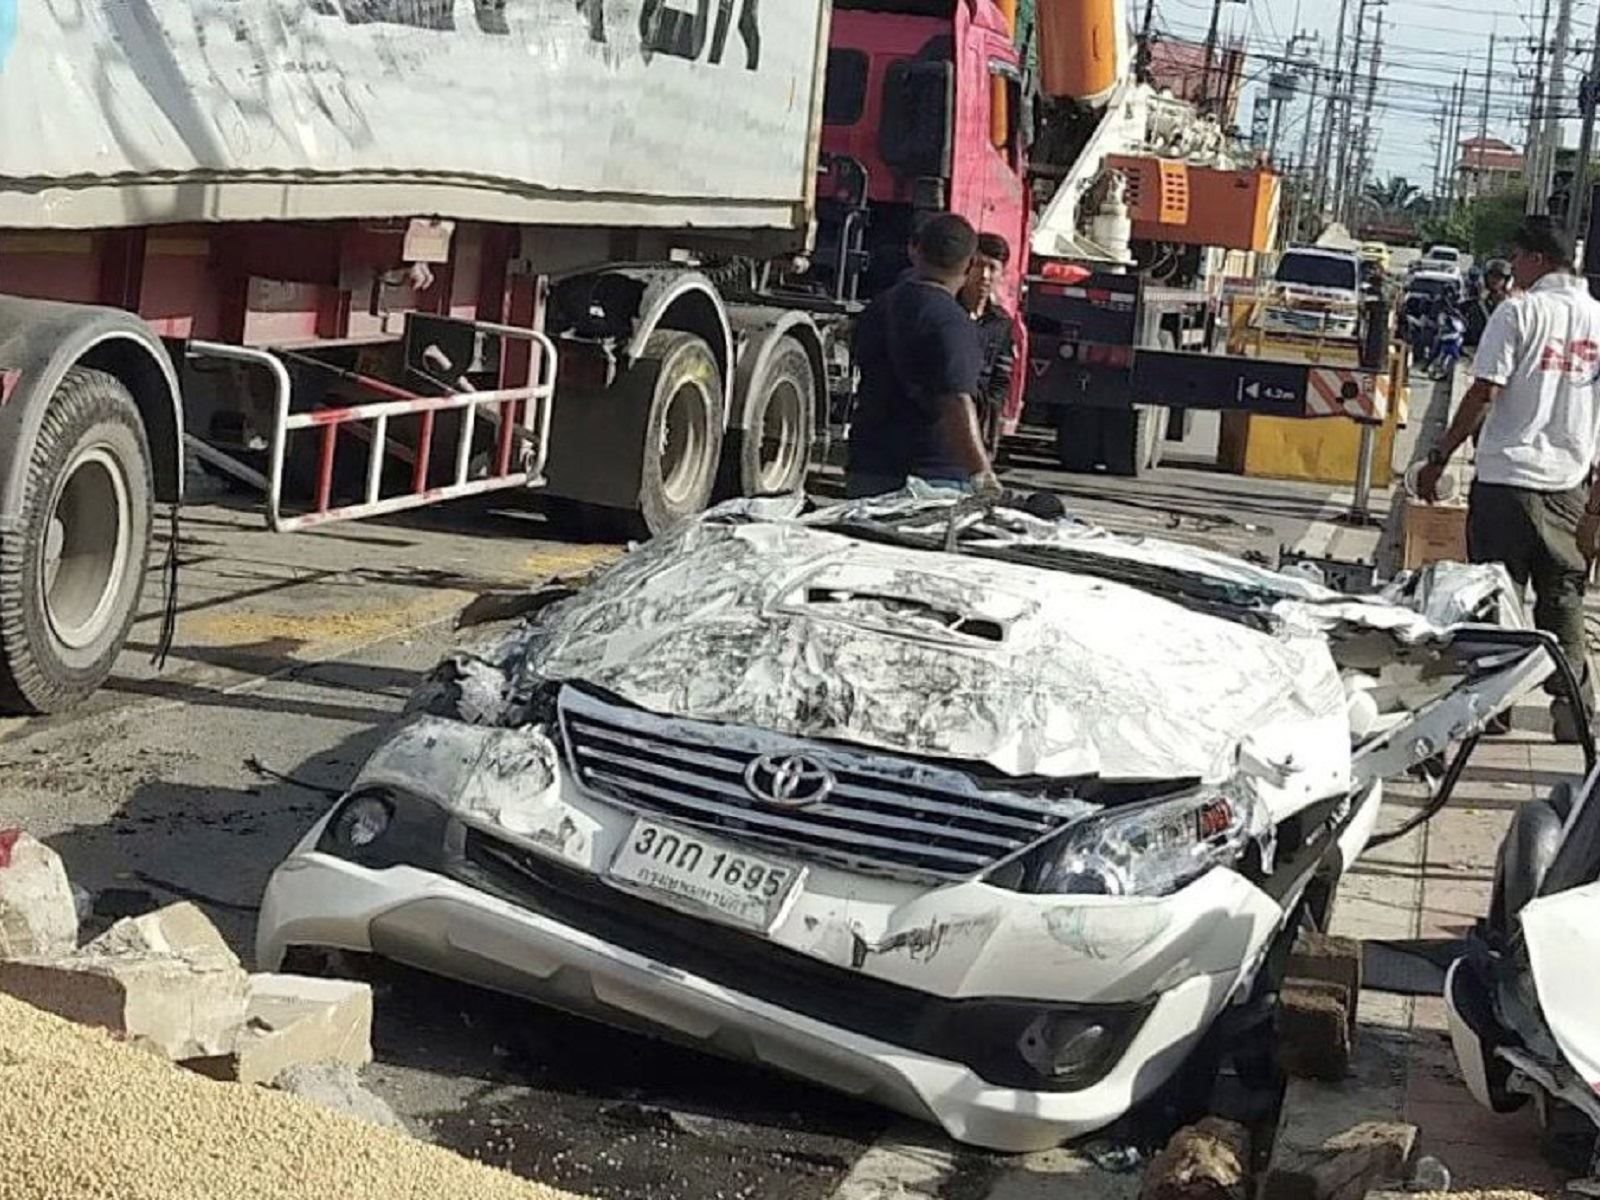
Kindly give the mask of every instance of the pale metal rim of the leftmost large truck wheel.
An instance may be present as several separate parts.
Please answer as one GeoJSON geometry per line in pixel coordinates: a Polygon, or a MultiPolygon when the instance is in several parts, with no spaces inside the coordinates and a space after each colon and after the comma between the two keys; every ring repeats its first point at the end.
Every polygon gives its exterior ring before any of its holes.
{"type": "Polygon", "coordinates": [[[72,459],[50,507],[40,571],[45,619],[70,650],[91,645],[110,622],[128,570],[131,515],[126,474],[106,446],[72,459]]]}

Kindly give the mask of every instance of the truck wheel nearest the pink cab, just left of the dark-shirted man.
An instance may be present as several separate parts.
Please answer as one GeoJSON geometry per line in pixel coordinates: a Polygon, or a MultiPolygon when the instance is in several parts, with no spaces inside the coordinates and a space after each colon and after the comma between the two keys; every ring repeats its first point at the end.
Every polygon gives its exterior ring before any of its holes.
{"type": "Polygon", "coordinates": [[[794,338],[773,350],[746,398],[738,445],[723,462],[725,496],[782,496],[805,486],[816,429],[816,371],[794,338]]]}

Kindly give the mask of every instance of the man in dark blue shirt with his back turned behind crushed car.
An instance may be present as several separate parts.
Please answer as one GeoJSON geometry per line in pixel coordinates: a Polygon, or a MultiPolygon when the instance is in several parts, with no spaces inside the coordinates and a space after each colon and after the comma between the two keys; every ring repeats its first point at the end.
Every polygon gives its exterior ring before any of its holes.
{"type": "Polygon", "coordinates": [[[856,325],[861,386],[850,430],[850,498],[898,491],[910,477],[998,493],[976,406],[982,346],[955,299],[976,250],[966,221],[931,218],[912,238],[912,272],[856,325]]]}

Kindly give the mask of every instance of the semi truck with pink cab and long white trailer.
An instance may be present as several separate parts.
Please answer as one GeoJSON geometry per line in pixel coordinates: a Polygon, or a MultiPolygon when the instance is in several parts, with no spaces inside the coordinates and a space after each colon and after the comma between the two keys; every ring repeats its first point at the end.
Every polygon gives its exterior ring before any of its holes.
{"type": "Polygon", "coordinates": [[[1013,21],[0,0],[0,707],[106,680],[186,467],[282,531],[802,486],[917,216],[1026,238],[1013,21]]]}

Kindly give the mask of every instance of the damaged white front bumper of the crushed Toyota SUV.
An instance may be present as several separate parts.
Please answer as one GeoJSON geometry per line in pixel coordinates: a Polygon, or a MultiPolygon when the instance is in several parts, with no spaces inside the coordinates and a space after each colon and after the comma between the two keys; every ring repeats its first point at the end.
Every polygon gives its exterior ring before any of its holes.
{"type": "MultiPolygon", "coordinates": [[[[1373,789],[1317,862],[1354,861],[1378,803],[1373,789]]],[[[363,866],[318,848],[338,816],[272,877],[264,970],[293,947],[370,952],[771,1066],[1010,1152],[1101,1130],[1163,1085],[1248,992],[1315,866],[1278,894],[1218,869],[1160,899],[930,890],[813,867],[786,920],[758,934],[454,818],[440,862],[363,866]]]]}

